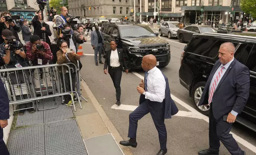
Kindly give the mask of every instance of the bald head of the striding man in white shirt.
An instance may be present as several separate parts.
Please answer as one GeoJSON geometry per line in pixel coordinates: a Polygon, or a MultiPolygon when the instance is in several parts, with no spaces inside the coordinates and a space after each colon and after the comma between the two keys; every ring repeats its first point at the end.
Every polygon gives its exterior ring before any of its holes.
{"type": "Polygon", "coordinates": [[[154,55],[145,55],[142,58],[142,68],[145,71],[151,70],[157,65],[157,59],[154,55]]]}

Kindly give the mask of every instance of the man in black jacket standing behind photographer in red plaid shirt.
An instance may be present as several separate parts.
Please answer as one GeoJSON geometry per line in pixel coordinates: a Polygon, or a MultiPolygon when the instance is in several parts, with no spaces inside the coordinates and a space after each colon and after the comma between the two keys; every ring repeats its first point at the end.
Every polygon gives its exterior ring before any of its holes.
{"type": "Polygon", "coordinates": [[[48,36],[51,36],[52,33],[50,32],[49,25],[44,23],[42,20],[42,13],[39,11],[39,13],[35,12],[35,17],[32,20],[32,25],[34,27],[34,35],[37,35],[40,37],[40,39],[43,39],[43,32],[45,33],[45,42],[50,43],[50,39],[48,36]]]}

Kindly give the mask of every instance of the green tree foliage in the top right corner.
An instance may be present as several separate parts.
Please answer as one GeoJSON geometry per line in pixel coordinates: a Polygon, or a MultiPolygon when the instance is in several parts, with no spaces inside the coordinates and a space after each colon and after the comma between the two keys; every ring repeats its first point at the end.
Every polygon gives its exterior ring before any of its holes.
{"type": "Polygon", "coordinates": [[[240,8],[246,14],[251,13],[251,16],[256,18],[256,1],[255,0],[241,0],[240,8]]]}

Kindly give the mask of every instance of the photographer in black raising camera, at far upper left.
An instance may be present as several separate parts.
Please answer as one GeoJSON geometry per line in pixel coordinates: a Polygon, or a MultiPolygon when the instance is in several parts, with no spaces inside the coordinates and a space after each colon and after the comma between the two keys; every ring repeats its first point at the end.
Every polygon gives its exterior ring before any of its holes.
{"type": "Polygon", "coordinates": [[[14,24],[14,21],[12,20],[11,13],[9,12],[3,12],[1,13],[0,18],[0,43],[4,42],[4,39],[2,38],[2,30],[8,29],[11,30],[13,33],[13,36],[15,36],[16,40],[20,42],[19,36],[17,32],[20,32],[19,26],[14,24]]]}

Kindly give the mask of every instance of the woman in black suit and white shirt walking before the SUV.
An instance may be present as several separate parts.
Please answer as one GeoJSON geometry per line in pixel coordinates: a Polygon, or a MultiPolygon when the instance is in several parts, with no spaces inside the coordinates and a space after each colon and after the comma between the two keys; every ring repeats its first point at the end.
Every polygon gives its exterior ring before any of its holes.
{"type": "Polygon", "coordinates": [[[104,74],[108,74],[114,83],[114,87],[116,89],[116,104],[119,106],[120,96],[121,96],[121,78],[122,78],[122,70],[125,69],[126,74],[128,73],[128,68],[126,63],[124,62],[124,53],[122,49],[116,48],[117,44],[115,40],[110,42],[111,50],[107,51],[105,64],[104,64],[104,74]],[[107,68],[109,68],[107,70],[107,68]]]}

